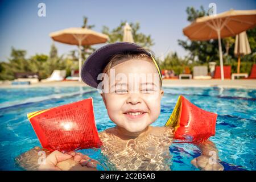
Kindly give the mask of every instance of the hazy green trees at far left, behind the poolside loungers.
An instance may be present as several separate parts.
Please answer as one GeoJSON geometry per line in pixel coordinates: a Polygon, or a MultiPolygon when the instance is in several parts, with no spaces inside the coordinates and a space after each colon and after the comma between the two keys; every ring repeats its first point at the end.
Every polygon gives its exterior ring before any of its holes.
{"type": "Polygon", "coordinates": [[[55,69],[66,69],[67,75],[70,75],[71,70],[77,66],[72,59],[59,57],[54,44],[49,56],[36,54],[27,59],[26,53],[24,50],[11,49],[9,61],[0,63],[0,80],[14,80],[15,73],[26,72],[38,73],[39,78],[43,79],[51,76],[55,69]]]}

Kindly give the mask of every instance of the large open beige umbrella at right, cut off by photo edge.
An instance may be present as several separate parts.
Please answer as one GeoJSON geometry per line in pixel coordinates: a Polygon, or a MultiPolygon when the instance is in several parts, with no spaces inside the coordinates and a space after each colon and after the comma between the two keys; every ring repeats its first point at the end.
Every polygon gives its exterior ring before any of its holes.
{"type": "Polygon", "coordinates": [[[221,80],[224,80],[221,38],[234,36],[256,25],[256,10],[229,10],[224,13],[197,18],[183,33],[191,40],[218,39],[221,80]]]}

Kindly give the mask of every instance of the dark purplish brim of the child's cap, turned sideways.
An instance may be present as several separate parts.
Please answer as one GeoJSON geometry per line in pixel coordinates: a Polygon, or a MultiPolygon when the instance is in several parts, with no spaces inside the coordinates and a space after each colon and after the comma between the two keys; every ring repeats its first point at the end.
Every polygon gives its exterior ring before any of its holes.
{"type": "Polygon", "coordinates": [[[101,80],[97,80],[97,77],[102,73],[112,56],[126,51],[137,51],[138,48],[141,47],[128,42],[118,42],[98,48],[86,59],[84,65],[82,65],[82,81],[93,88],[97,88],[101,82],[101,80]]]}

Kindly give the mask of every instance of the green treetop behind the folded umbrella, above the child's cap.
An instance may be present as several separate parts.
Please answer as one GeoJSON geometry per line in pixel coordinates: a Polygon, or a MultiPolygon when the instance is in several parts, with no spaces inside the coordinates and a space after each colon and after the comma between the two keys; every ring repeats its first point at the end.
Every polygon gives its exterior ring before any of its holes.
{"type": "MultiPolygon", "coordinates": [[[[121,21],[119,26],[113,28],[113,30],[110,30],[110,28],[107,26],[102,28],[102,33],[109,36],[109,43],[122,42],[123,27],[125,26],[125,23],[126,21],[121,21]]],[[[144,35],[142,32],[139,32],[139,29],[141,28],[139,22],[129,24],[131,26],[133,39],[136,44],[147,49],[149,49],[151,46],[154,46],[151,35],[144,35]]]]}

